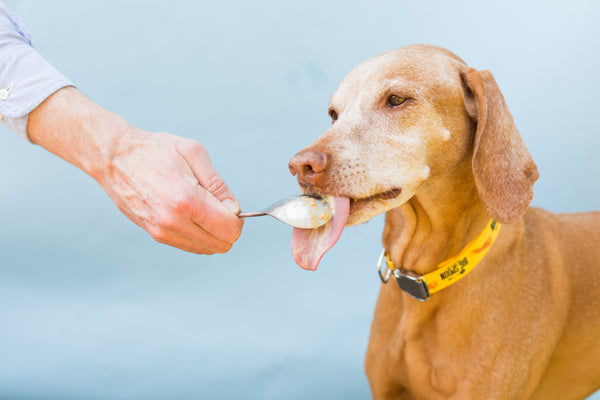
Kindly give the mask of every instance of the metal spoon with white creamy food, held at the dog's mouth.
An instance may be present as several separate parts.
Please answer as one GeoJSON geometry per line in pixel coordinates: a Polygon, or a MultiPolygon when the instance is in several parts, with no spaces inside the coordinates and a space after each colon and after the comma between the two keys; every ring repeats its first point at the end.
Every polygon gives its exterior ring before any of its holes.
{"type": "Polygon", "coordinates": [[[281,222],[301,229],[314,229],[325,225],[333,216],[327,201],[315,196],[291,196],[259,212],[240,212],[239,218],[270,215],[281,222]]]}

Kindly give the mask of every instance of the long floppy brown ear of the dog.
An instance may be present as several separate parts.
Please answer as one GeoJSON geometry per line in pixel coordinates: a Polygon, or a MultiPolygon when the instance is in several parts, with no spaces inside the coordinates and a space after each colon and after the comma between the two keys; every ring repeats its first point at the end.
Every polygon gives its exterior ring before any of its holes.
{"type": "Polygon", "coordinates": [[[538,169],[489,71],[461,72],[467,113],[476,121],[473,176],[487,213],[503,224],[515,222],[533,198],[538,169]]]}

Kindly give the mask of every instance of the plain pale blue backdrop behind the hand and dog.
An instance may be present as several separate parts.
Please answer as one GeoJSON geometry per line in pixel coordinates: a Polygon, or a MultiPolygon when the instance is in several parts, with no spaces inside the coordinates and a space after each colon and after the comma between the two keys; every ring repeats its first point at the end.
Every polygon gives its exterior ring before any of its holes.
{"type": "MultiPolygon", "coordinates": [[[[341,79],[411,43],[494,73],[541,171],[534,205],[600,208],[597,1],[7,4],[94,101],[203,143],[244,210],[297,193],[288,160],[328,128],[341,79]]],[[[312,273],[267,218],[226,255],[187,254],[2,128],[0,221],[2,399],[370,396],[381,216],[312,273]]]]}

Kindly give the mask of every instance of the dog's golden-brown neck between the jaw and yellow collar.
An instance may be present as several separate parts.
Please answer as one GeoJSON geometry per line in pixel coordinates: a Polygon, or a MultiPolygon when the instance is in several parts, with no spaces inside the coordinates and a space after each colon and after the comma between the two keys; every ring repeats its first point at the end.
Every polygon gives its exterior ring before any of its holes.
{"type": "Polygon", "coordinates": [[[383,244],[401,268],[424,275],[458,255],[489,216],[479,200],[470,165],[433,178],[402,206],[388,211],[383,244]]]}

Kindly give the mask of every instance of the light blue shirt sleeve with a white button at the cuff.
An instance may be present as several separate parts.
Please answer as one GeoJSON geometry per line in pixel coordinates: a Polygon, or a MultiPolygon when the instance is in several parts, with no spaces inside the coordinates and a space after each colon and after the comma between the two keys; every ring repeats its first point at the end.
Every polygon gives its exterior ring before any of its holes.
{"type": "Polygon", "coordinates": [[[73,84],[33,49],[27,27],[0,2],[0,123],[29,139],[29,113],[66,86],[73,84]]]}

